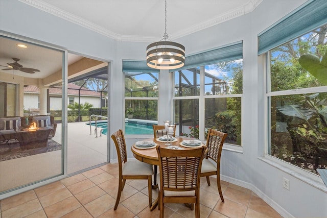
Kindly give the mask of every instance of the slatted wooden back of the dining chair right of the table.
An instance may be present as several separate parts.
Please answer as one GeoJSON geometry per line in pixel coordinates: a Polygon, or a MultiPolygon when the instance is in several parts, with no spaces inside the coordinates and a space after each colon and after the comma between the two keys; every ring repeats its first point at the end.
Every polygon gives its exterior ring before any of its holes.
{"type": "Polygon", "coordinates": [[[206,146],[208,153],[206,158],[211,158],[215,162],[220,162],[220,156],[227,133],[219,132],[218,130],[210,129],[207,136],[206,146]]]}

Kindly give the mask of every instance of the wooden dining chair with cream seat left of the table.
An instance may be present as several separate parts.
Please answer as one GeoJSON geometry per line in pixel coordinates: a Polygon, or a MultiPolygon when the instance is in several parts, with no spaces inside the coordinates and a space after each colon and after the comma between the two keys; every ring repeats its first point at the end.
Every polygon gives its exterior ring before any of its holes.
{"type": "Polygon", "coordinates": [[[138,160],[127,162],[126,143],[123,130],[118,130],[111,135],[116,146],[119,163],[119,187],[116,203],[113,210],[116,210],[124,189],[126,179],[147,179],[149,192],[149,207],[152,206],[152,165],[138,160]]]}

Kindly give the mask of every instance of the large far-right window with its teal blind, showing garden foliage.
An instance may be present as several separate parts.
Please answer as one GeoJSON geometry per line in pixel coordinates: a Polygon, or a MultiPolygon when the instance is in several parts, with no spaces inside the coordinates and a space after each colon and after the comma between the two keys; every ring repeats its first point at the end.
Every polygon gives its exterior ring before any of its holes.
{"type": "Polygon", "coordinates": [[[259,35],[268,63],[267,154],[313,174],[327,168],[327,4],[320,3],[259,35]]]}

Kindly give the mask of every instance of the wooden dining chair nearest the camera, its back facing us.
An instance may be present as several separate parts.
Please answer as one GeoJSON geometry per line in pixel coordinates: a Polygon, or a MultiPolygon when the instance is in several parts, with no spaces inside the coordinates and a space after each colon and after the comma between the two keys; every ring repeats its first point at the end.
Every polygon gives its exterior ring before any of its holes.
{"type": "Polygon", "coordinates": [[[164,217],[165,203],[195,204],[195,217],[200,217],[200,170],[205,147],[173,150],[157,146],[156,150],[160,218],[164,217]]]}

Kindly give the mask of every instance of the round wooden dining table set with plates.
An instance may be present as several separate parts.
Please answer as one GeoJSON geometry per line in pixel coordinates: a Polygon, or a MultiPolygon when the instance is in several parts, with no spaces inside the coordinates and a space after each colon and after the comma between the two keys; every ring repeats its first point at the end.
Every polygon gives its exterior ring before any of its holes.
{"type": "MultiPolygon", "coordinates": [[[[170,148],[172,148],[172,149],[177,148],[178,150],[189,150],[189,149],[199,148],[200,146],[192,148],[192,147],[184,147],[181,145],[181,142],[183,140],[193,140],[193,139],[194,138],[175,137],[175,140],[171,142],[172,147],[170,147],[170,148]]],[[[142,141],[153,141],[160,147],[164,147],[164,148],[169,147],[168,145],[166,145],[167,141],[161,141],[159,138],[148,138],[148,139],[144,139],[142,141]]],[[[203,144],[203,142],[201,142],[201,146],[205,146],[205,144],[203,144]]],[[[156,182],[156,180],[157,180],[156,174],[157,174],[157,165],[159,165],[159,158],[158,158],[156,146],[147,148],[147,149],[138,149],[134,143],[133,146],[131,147],[131,151],[133,153],[133,156],[137,160],[154,165],[154,175],[155,176],[154,176],[154,185],[152,186],[152,188],[157,188],[158,185],[156,182]]],[[[152,211],[157,205],[158,205],[158,198],[152,204],[152,207],[150,208],[150,210],[152,211]]]]}

